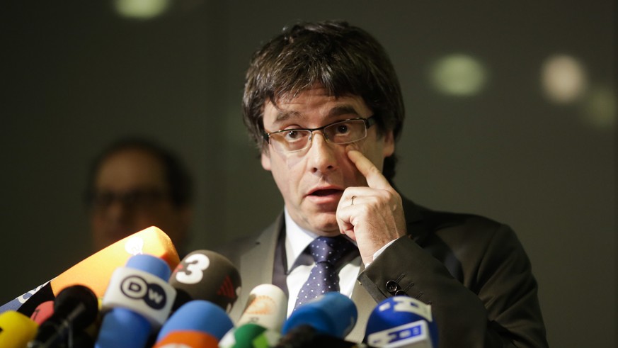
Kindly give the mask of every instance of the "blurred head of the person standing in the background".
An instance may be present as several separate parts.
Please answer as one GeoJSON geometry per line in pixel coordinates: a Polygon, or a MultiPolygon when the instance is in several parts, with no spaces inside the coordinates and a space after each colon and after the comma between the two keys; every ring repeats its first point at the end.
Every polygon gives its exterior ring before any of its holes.
{"type": "Polygon", "coordinates": [[[126,137],[93,160],[86,203],[98,251],[156,226],[183,257],[193,211],[193,180],[171,150],[153,140],[126,137]]]}

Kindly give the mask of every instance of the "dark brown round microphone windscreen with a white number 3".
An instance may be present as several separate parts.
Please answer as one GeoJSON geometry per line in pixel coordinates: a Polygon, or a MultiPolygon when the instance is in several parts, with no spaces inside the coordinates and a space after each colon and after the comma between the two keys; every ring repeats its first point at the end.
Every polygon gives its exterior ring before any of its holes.
{"type": "Polygon", "coordinates": [[[210,250],[187,254],[173,270],[169,284],[177,292],[172,310],[188,301],[205,300],[229,313],[241,291],[241,277],[234,264],[210,250]]]}

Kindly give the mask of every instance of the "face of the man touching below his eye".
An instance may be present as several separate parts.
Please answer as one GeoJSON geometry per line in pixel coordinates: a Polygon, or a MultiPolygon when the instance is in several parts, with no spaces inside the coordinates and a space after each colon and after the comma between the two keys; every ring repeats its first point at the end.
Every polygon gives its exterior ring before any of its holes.
{"type": "MultiPolygon", "coordinates": [[[[264,129],[267,133],[286,128],[319,128],[348,118],[369,118],[372,111],[359,96],[328,96],[323,88],[304,91],[291,100],[264,107],[264,129]]],[[[394,152],[391,131],[379,137],[377,126],[367,130],[365,139],[352,144],[333,144],[314,131],[311,147],[292,153],[280,153],[269,145],[262,152],[262,167],[273,174],[287,211],[302,228],[318,235],[339,234],[336,210],[343,190],[349,186],[367,186],[346,155],[352,146],[380,170],[384,157],[394,152]]]]}

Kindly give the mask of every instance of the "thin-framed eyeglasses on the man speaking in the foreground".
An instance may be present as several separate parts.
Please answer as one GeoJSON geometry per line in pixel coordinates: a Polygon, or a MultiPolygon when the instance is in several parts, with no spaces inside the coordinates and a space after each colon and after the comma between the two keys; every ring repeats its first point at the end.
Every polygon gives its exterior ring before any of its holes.
{"type": "Polygon", "coordinates": [[[311,139],[316,130],[321,130],[324,139],[333,144],[349,144],[367,137],[367,129],[375,124],[375,115],[369,118],[348,118],[320,128],[294,128],[264,133],[265,142],[273,145],[280,153],[298,152],[311,147],[311,139]]]}

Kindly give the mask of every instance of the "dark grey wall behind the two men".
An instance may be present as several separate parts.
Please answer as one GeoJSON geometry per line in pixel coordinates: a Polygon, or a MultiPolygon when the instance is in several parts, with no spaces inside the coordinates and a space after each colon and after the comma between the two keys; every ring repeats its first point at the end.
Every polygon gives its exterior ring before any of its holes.
{"type": "Polygon", "coordinates": [[[539,82],[544,60],[566,53],[591,89],[615,88],[613,1],[183,0],[151,21],[122,19],[106,1],[11,2],[0,5],[0,303],[93,252],[87,164],[119,135],[157,137],[190,164],[192,249],[268,224],[281,199],[241,122],[246,63],[287,23],[345,18],[381,40],[399,72],[402,193],[512,225],[551,346],[616,347],[615,114],[597,126],[580,104],[547,101],[539,82]],[[481,94],[430,87],[428,67],[452,52],[485,64],[481,94]]]}

